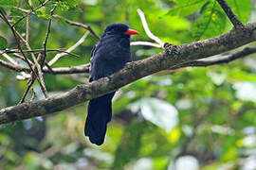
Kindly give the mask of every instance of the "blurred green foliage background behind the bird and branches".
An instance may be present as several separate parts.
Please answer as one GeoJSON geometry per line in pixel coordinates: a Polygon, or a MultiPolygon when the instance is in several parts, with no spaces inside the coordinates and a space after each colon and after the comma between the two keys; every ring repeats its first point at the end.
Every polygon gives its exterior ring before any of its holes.
{"type": "MultiPolygon", "coordinates": [[[[227,0],[244,23],[256,22],[255,0],[227,0]]],[[[144,32],[137,8],[152,32],[163,42],[194,42],[220,35],[232,26],[215,0],[63,0],[52,1],[30,17],[29,41],[42,48],[52,4],[55,14],[90,25],[101,35],[106,25],[126,23],[144,32]]],[[[40,6],[32,0],[32,7],[40,6]]],[[[30,9],[27,0],[0,0],[13,23],[30,9]]],[[[16,29],[26,31],[25,21],[16,29]]],[[[67,49],[85,30],[53,19],[47,48],[67,49]]],[[[1,21],[0,36],[16,49],[9,27],[1,21]]],[[[91,34],[53,67],[89,62],[97,42],[91,34]]],[[[251,43],[248,46],[253,46],[251,43]]],[[[229,55],[242,50],[233,50],[229,55]]],[[[132,46],[134,59],[145,59],[161,49],[132,46]]],[[[56,53],[48,53],[47,61],[56,53]]],[[[10,55],[11,56],[11,55],[10,55]]],[[[0,56],[0,59],[4,59],[0,56]]],[[[13,58],[16,59],[16,58],[13,58]]],[[[18,59],[17,59],[18,61],[18,59]]],[[[0,66],[0,107],[16,105],[27,88],[18,73],[0,66]]],[[[45,75],[50,95],[66,92],[86,81],[86,74],[45,75]]],[[[44,98],[38,83],[36,100],[44,98]]],[[[30,93],[27,96],[29,100],[30,93]]],[[[68,110],[0,126],[0,169],[256,169],[256,58],[251,55],[229,64],[183,68],[147,76],[121,89],[113,102],[113,119],[105,143],[90,144],[83,136],[87,102],[68,110]]]]}

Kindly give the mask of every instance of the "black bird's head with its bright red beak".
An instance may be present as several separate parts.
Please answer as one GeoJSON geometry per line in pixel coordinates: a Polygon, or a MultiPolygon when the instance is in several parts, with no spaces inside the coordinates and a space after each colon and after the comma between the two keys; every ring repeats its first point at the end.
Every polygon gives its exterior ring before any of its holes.
{"type": "Polygon", "coordinates": [[[122,24],[122,23],[113,23],[111,25],[106,26],[105,35],[139,35],[137,30],[130,29],[129,26],[122,24]]]}

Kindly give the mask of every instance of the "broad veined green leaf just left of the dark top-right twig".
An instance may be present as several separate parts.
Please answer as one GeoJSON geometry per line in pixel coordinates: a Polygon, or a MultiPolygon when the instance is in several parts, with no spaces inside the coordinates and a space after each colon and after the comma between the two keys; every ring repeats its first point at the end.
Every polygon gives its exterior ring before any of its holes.
{"type": "Polygon", "coordinates": [[[220,35],[225,30],[226,15],[214,1],[202,10],[202,17],[192,23],[192,35],[195,40],[220,35]]]}

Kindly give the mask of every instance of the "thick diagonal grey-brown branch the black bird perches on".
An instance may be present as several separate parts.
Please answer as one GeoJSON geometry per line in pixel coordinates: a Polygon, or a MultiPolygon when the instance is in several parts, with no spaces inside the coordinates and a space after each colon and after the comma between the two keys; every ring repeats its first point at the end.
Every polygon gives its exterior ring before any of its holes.
{"type": "Polygon", "coordinates": [[[232,29],[228,33],[204,41],[176,45],[148,59],[128,63],[118,73],[103,77],[89,84],[79,85],[69,92],[36,102],[27,102],[0,110],[0,124],[42,116],[110,93],[137,79],[167,70],[175,65],[203,59],[235,49],[256,41],[256,24],[247,24],[244,29],[232,29]]]}

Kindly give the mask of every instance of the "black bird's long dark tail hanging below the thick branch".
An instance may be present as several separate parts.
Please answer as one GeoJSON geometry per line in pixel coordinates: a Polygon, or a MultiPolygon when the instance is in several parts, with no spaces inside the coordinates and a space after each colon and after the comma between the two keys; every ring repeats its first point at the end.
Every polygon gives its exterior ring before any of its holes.
{"type": "Polygon", "coordinates": [[[107,93],[89,102],[84,134],[93,144],[101,145],[104,142],[107,123],[112,117],[111,100],[115,93],[107,93]]]}

